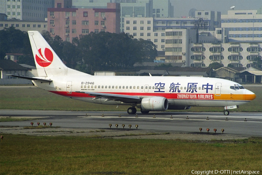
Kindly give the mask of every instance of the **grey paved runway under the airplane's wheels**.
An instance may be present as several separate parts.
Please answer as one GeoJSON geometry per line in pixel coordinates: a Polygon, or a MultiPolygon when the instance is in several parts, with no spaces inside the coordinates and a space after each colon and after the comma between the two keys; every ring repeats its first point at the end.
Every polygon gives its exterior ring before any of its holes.
{"type": "Polygon", "coordinates": [[[21,117],[34,118],[28,121],[1,122],[1,126],[30,126],[30,122],[52,122],[52,126],[60,126],[61,128],[91,128],[106,129],[109,124],[112,128],[122,128],[121,125],[138,125],[138,129],[143,131],[161,131],[174,133],[197,133],[213,132],[217,129],[217,133],[236,136],[262,136],[262,116],[261,113],[243,113],[231,112],[224,115],[222,112],[150,112],[136,115],[128,115],[126,111],[108,112],[108,111],[34,111],[34,110],[0,110],[1,117],[21,117]],[[104,114],[104,117],[102,117],[104,114]],[[121,117],[119,117],[119,115],[121,117]],[[154,116],[155,115],[155,116],[154,116]],[[172,117],[171,117],[172,115],[172,117]],[[155,117],[155,118],[154,118],[155,117]],[[37,118],[37,119],[36,119],[37,118]],[[188,119],[187,119],[188,118],[188,119]],[[208,119],[208,120],[207,120],[208,119]]]}

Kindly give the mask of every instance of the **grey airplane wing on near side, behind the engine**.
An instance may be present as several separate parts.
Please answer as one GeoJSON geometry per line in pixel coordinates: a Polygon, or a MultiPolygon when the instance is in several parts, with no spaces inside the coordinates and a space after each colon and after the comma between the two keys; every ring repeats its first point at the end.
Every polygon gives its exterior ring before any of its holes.
{"type": "MultiPolygon", "coordinates": [[[[79,91],[76,91],[79,92],[79,91]]],[[[101,92],[79,92],[79,93],[85,93],[91,96],[94,96],[93,100],[100,99],[100,98],[106,98],[105,101],[122,101],[124,103],[133,103],[138,102],[142,100],[142,97],[138,97],[135,95],[121,95],[121,94],[109,94],[109,93],[101,93],[101,92]]]]}

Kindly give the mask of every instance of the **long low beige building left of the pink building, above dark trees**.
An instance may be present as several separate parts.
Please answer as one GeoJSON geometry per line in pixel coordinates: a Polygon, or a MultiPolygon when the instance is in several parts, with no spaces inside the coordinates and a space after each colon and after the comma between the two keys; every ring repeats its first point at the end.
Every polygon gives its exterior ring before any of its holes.
{"type": "Polygon", "coordinates": [[[11,26],[21,31],[37,30],[41,33],[47,30],[47,21],[0,20],[0,30],[11,26]]]}

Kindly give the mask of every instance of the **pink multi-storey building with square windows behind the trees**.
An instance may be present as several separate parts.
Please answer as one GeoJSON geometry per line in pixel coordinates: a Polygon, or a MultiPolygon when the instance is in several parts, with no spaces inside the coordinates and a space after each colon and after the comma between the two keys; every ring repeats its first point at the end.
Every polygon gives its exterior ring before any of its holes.
{"type": "Polygon", "coordinates": [[[63,8],[71,4],[56,0],[56,8],[47,9],[47,29],[51,36],[63,41],[89,34],[91,31],[120,33],[120,3],[107,3],[107,8],[63,8]]]}

